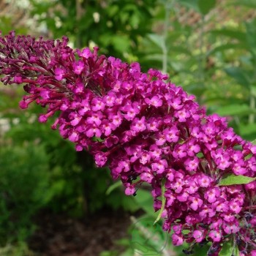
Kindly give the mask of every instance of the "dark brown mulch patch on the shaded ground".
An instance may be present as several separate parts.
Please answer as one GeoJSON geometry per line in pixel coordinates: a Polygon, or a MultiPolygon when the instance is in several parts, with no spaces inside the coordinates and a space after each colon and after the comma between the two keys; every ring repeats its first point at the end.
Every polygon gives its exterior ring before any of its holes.
{"type": "Polygon", "coordinates": [[[39,256],[99,256],[105,250],[122,250],[115,244],[127,238],[129,214],[102,211],[83,220],[40,214],[29,247],[39,256]]]}

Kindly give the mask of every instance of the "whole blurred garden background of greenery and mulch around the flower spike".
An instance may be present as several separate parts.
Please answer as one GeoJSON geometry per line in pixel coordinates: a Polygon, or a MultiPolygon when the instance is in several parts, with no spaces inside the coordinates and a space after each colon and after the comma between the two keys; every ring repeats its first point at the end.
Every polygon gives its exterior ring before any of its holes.
{"type": "MultiPolygon", "coordinates": [[[[255,0],[0,0],[0,30],[13,29],[67,35],[72,47],[98,45],[144,72],[161,69],[208,113],[256,138],[255,0]]],[[[182,255],[169,237],[162,249],[169,235],[148,227],[150,193],[125,196],[50,120],[37,123],[37,106],[20,110],[22,94],[0,89],[0,255],[182,255]]]]}

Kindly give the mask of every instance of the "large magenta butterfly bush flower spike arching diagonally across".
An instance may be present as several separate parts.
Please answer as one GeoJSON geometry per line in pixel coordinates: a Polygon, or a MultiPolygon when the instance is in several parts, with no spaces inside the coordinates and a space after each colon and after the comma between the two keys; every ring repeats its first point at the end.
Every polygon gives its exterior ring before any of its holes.
{"type": "Polygon", "coordinates": [[[207,116],[167,75],[67,42],[0,37],[1,81],[25,84],[20,108],[46,108],[40,122],[58,111],[52,128],[108,165],[127,195],[150,184],[155,211],[165,198],[163,229],[173,231],[173,244],[211,241],[208,255],[218,255],[232,240],[240,255],[256,255],[255,181],[218,185],[230,174],[256,176],[256,146],[225,118],[207,116]]]}

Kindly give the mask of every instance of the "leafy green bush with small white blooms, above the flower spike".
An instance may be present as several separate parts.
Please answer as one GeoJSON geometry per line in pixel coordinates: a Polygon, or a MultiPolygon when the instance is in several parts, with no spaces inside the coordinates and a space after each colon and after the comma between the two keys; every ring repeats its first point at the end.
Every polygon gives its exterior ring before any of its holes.
{"type": "Polygon", "coordinates": [[[131,59],[143,35],[151,31],[156,1],[32,1],[32,15],[53,37],[67,35],[75,46],[100,45],[102,52],[131,59]]]}

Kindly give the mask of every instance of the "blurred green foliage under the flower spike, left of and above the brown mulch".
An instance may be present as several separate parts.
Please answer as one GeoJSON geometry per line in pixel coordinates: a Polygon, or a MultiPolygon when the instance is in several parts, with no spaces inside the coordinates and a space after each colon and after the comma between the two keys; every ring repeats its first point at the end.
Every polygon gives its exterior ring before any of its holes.
{"type": "Polygon", "coordinates": [[[50,121],[38,123],[38,106],[17,108],[20,89],[1,91],[1,124],[7,131],[0,136],[0,244],[29,236],[31,217],[41,208],[71,217],[103,207],[137,211],[121,189],[105,194],[113,184],[108,170],[96,169],[86,152],[78,154],[50,129],[50,121]]]}

